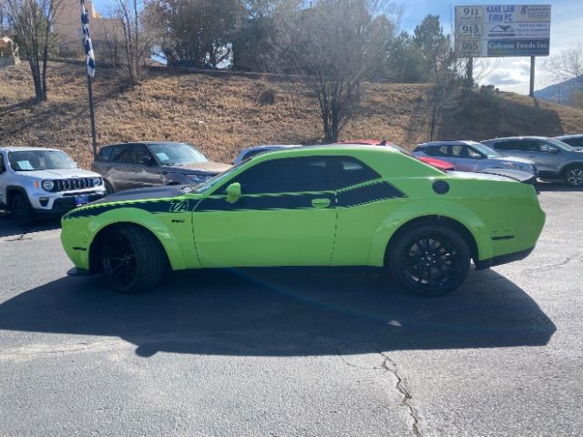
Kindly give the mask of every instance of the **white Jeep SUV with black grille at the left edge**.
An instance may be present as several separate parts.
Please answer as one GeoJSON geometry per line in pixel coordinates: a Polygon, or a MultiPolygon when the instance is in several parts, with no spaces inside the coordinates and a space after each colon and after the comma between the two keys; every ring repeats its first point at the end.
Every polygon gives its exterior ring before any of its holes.
{"type": "Polygon", "coordinates": [[[105,193],[97,173],[77,168],[61,150],[0,147],[0,208],[21,226],[41,216],[60,217],[105,193]]]}

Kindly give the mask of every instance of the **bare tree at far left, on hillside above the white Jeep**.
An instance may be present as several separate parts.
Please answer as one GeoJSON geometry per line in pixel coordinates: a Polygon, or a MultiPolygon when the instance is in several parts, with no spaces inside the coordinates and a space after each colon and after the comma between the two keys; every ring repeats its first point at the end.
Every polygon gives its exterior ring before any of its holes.
{"type": "Polygon", "coordinates": [[[46,101],[46,66],[55,45],[52,31],[61,0],[4,0],[21,54],[26,56],[37,101],[46,101]]]}

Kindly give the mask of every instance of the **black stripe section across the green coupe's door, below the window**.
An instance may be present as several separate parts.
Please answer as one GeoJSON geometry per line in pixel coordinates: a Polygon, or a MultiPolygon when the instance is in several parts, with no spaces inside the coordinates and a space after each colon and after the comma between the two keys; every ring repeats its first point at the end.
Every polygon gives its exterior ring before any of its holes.
{"type": "Polygon", "coordinates": [[[330,205],[326,208],[334,208],[335,202],[333,193],[312,193],[242,196],[235,202],[228,202],[226,196],[211,196],[200,201],[199,206],[196,208],[196,212],[270,209],[316,209],[312,205],[312,200],[320,198],[327,198],[330,200],[330,205]]]}

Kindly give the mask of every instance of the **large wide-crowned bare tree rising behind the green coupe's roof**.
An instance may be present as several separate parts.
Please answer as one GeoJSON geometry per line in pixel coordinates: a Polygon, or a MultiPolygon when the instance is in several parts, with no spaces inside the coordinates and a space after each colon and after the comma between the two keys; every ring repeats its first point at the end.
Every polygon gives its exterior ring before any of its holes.
{"type": "Polygon", "coordinates": [[[274,13],[274,69],[307,77],[324,140],[336,141],[358,106],[361,83],[383,62],[399,10],[385,0],[290,0],[274,13]]]}

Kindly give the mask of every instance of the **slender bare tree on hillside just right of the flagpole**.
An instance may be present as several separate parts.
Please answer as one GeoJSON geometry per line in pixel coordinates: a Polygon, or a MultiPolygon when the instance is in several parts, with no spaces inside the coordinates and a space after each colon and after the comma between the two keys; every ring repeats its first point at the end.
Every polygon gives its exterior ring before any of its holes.
{"type": "MultiPolygon", "coordinates": [[[[144,24],[140,0],[115,0],[115,11],[121,29],[114,28],[108,39],[115,50],[122,47],[122,64],[128,72],[128,81],[137,84],[141,78],[141,67],[151,51],[151,38],[144,24]],[[119,40],[121,40],[119,42],[119,40]]],[[[116,54],[117,56],[117,54],[116,54]]]]}

